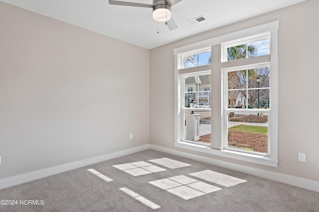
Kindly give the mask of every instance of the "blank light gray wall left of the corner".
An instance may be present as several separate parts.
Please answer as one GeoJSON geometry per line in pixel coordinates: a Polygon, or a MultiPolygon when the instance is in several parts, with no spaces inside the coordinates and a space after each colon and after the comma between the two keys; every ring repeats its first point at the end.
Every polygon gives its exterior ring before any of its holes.
{"type": "Polygon", "coordinates": [[[0,179],[148,144],[149,69],[147,49],[0,2],[0,179]]]}

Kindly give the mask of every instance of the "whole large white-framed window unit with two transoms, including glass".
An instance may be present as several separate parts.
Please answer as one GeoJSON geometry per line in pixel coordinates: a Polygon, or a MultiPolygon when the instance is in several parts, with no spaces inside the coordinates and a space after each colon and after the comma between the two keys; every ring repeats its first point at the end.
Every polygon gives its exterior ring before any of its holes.
{"type": "Polygon", "coordinates": [[[175,146],[277,167],[278,27],[274,21],[174,49],[175,146]]]}

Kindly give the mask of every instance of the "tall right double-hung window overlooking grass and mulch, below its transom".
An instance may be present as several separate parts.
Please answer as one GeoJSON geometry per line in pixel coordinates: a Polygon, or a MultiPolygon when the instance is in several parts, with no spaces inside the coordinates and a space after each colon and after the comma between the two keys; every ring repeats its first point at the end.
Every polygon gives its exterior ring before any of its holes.
{"type": "Polygon", "coordinates": [[[270,64],[226,69],[224,75],[229,100],[224,106],[225,149],[269,155],[270,64]],[[248,104],[240,104],[235,98],[247,99],[248,104]]]}

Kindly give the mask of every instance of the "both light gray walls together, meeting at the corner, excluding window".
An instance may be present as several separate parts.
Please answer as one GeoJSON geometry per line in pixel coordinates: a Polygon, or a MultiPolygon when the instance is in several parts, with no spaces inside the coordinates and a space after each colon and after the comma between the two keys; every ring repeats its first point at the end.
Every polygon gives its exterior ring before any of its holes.
{"type": "Polygon", "coordinates": [[[148,143],[178,149],[173,49],[279,20],[279,167],[201,155],[319,181],[318,8],[307,0],[149,51],[0,2],[0,179],[148,143]]]}

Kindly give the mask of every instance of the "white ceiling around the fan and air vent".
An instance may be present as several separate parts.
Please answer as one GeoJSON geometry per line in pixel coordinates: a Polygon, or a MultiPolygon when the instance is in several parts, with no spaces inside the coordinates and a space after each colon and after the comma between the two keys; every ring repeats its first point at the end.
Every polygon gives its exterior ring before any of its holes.
{"type": "MultiPolygon", "coordinates": [[[[305,0],[182,0],[171,7],[177,24],[168,30],[152,18],[152,8],[110,5],[108,0],[1,0],[33,12],[152,49],[305,0]],[[193,25],[187,20],[203,15],[193,25]]],[[[124,0],[153,4],[153,0],[124,0]]]]}

